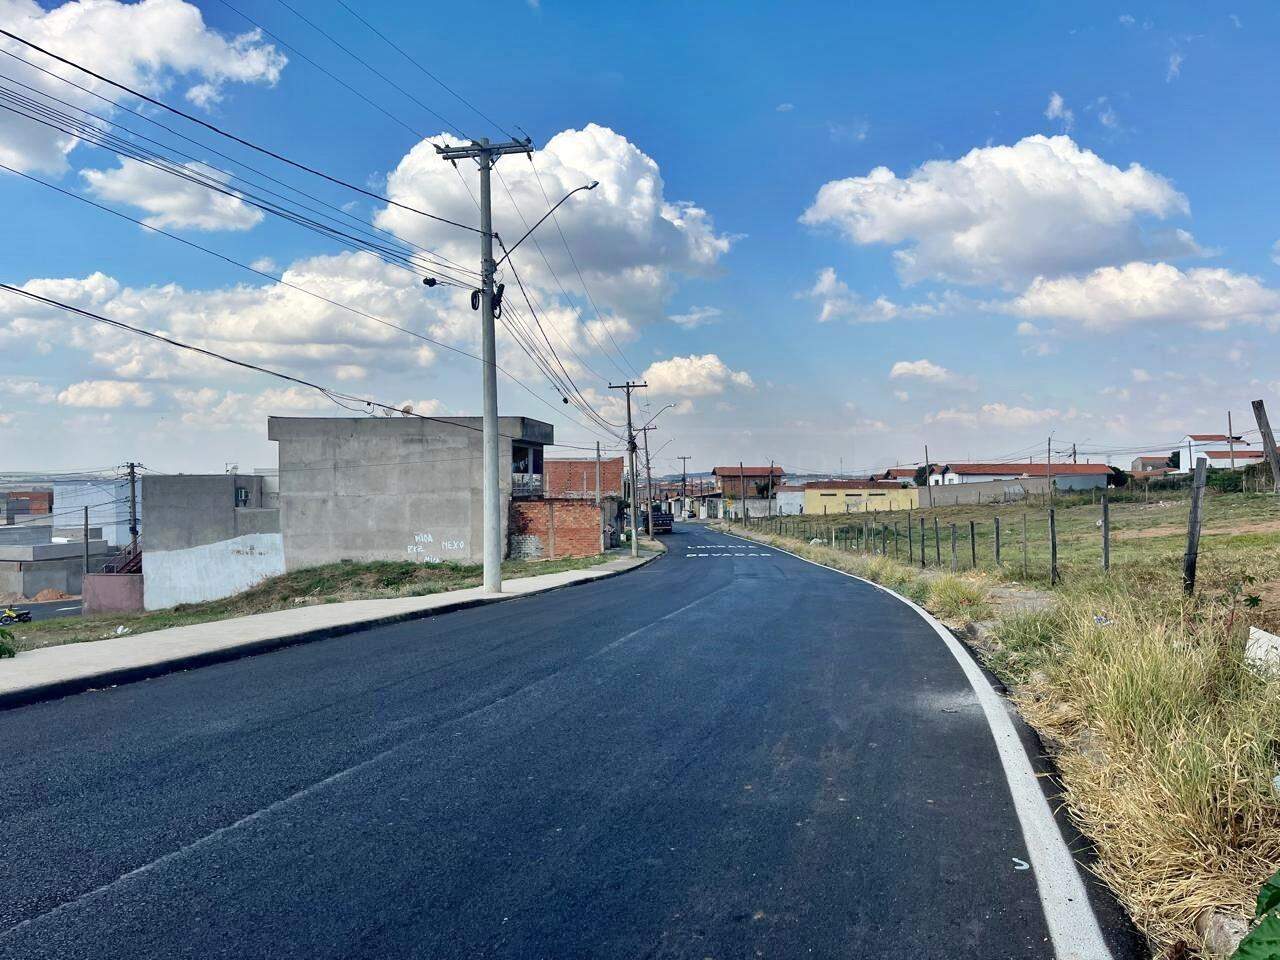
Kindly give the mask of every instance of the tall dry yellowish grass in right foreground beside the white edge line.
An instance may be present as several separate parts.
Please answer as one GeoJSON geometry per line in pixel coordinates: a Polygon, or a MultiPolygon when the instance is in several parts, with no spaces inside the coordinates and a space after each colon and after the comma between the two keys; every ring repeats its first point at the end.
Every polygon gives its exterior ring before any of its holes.
{"type": "Polygon", "coordinates": [[[1196,946],[1208,908],[1251,915],[1280,863],[1280,677],[1245,663],[1239,617],[1076,594],[1005,621],[997,649],[1023,716],[1060,745],[1098,874],[1153,943],[1196,946]]]}

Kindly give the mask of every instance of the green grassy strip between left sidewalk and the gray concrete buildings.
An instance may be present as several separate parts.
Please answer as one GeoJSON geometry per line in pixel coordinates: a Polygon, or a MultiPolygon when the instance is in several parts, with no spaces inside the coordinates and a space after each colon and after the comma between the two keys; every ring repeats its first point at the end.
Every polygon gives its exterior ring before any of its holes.
{"type": "MultiPolygon", "coordinates": [[[[620,554],[621,556],[621,554],[620,554]]],[[[580,570],[602,563],[607,557],[580,557],[553,561],[507,561],[502,575],[507,580],[580,570]]],[[[323,567],[297,570],[264,580],[244,593],[209,603],[180,604],[166,611],[97,617],[64,617],[38,623],[20,623],[13,628],[12,646],[18,652],[41,646],[101,640],[116,635],[118,627],[129,634],[142,634],[188,623],[206,623],[251,613],[293,609],[303,604],[367,600],[388,596],[425,596],[445,590],[480,586],[484,582],[479,564],[411,563],[381,561],[374,563],[329,563],[323,567]]],[[[0,667],[3,669],[3,667],[0,667]]]]}

